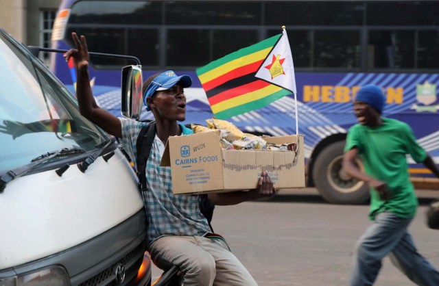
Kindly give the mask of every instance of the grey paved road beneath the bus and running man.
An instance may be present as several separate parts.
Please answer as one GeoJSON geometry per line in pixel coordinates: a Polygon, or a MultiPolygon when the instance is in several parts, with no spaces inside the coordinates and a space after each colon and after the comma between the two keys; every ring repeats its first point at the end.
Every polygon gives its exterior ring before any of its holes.
{"type": "MultiPolygon", "coordinates": [[[[439,192],[418,192],[420,207],[410,226],[418,250],[439,269],[439,231],[428,229],[424,212],[439,192]]],[[[370,224],[368,205],[330,205],[315,189],[281,191],[265,202],[217,207],[213,227],[259,285],[348,284],[352,250],[370,224]]],[[[157,277],[160,270],[153,269],[157,277]]],[[[376,286],[414,285],[390,260],[376,286]]]]}

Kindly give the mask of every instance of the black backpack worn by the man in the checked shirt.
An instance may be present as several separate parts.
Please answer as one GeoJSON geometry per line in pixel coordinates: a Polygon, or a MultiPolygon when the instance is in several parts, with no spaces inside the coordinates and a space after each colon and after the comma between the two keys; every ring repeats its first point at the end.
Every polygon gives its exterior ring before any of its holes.
{"type": "MultiPolygon", "coordinates": [[[[191,128],[190,124],[185,125],[188,128],[191,128]]],[[[142,127],[139,132],[139,137],[136,142],[136,150],[137,150],[137,177],[139,178],[139,190],[141,192],[147,192],[147,184],[146,184],[146,162],[148,161],[148,157],[150,157],[150,151],[152,148],[152,142],[154,142],[154,137],[156,135],[156,122],[152,121],[142,127]]],[[[204,218],[207,219],[209,223],[209,227],[211,232],[213,232],[211,221],[213,217],[213,209],[215,209],[215,205],[209,200],[207,194],[201,194],[200,201],[200,210],[204,218]]]]}

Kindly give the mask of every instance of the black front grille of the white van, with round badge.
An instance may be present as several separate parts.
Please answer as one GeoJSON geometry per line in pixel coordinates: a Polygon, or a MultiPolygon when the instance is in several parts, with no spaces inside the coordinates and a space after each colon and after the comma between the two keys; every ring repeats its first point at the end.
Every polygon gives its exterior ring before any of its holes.
{"type": "Polygon", "coordinates": [[[110,267],[89,278],[87,281],[84,281],[79,286],[127,285],[133,277],[137,276],[137,271],[142,264],[144,253],[145,250],[143,244],[139,244],[137,248],[134,248],[134,250],[129,252],[125,257],[122,257],[119,261],[113,263],[110,267]],[[119,264],[122,264],[125,267],[125,279],[121,284],[117,283],[115,275],[115,269],[119,264]]]}

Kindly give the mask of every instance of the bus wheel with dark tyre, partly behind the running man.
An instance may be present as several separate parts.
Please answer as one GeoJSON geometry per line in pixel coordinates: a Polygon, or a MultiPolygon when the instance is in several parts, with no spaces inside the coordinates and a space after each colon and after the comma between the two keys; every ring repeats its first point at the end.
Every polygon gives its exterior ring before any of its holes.
{"type": "MultiPolygon", "coordinates": [[[[329,203],[361,204],[369,199],[368,185],[342,170],[344,141],[335,142],[318,155],[313,179],[322,197],[329,203]]],[[[363,170],[361,161],[357,166],[363,170]]]]}

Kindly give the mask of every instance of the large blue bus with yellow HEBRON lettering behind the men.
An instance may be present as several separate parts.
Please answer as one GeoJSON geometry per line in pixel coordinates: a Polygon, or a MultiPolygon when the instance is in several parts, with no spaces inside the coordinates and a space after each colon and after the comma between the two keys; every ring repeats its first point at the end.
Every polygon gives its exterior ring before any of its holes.
{"type": "MultiPolygon", "coordinates": [[[[212,118],[195,69],[281,33],[285,25],[294,59],[294,96],[284,96],[228,121],[259,135],[305,135],[307,185],[330,203],[364,203],[365,183],[342,169],[346,133],[356,123],[352,101],[361,86],[383,88],[383,116],[407,122],[439,164],[439,5],[437,1],[144,1],[64,0],[52,48],[74,47],[71,32],[88,49],[134,55],[143,77],[163,70],[191,75],[187,120],[212,118]]],[[[97,103],[120,115],[120,69],[127,60],[91,57],[97,103]]],[[[75,71],[62,55],[51,70],[73,90],[75,71]]],[[[141,119],[150,120],[144,112],[141,119]]],[[[422,164],[409,157],[412,181],[439,189],[422,164]]],[[[362,168],[361,161],[358,161],[362,168]]],[[[416,184],[416,186],[420,186],[416,184]]]]}

